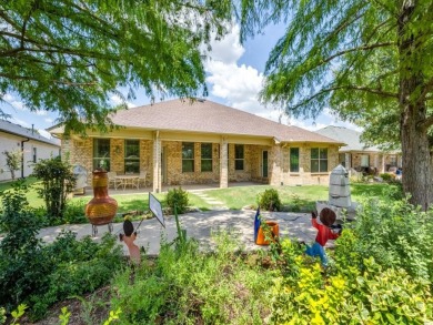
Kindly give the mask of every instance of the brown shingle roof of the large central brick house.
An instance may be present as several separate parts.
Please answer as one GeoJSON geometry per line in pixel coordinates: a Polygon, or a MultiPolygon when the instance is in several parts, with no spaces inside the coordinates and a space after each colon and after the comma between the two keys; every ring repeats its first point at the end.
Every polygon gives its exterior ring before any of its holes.
{"type": "Polygon", "coordinates": [[[117,112],[112,121],[118,125],[148,130],[269,136],[281,142],[341,143],[298,126],[280,124],[209,100],[193,103],[170,100],[132,108],[117,112]]]}

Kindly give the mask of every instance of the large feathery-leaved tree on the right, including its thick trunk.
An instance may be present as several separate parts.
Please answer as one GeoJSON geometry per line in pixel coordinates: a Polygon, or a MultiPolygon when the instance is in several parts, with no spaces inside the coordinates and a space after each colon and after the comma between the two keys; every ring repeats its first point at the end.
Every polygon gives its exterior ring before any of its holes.
{"type": "Polygon", "coordinates": [[[261,99],[295,116],[315,118],[330,106],[343,119],[393,130],[403,153],[403,189],[427,209],[433,2],[242,1],[241,39],[281,20],[290,23],[270,53],[261,99]]]}

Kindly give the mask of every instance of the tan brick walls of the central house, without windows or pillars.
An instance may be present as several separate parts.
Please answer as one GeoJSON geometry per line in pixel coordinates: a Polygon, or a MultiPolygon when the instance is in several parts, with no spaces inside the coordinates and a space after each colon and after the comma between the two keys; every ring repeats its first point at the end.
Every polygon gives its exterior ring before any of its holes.
{"type": "MultiPolygon", "coordinates": [[[[311,148],[322,145],[314,144],[294,144],[293,148],[300,149],[300,172],[291,173],[290,167],[290,146],[263,146],[244,145],[244,170],[234,170],[234,145],[229,143],[229,182],[262,182],[272,185],[306,185],[306,184],[328,184],[329,173],[310,173],[311,148]],[[269,177],[262,177],[262,152],[268,151],[268,174],[269,177]]],[[[168,185],[182,184],[205,184],[220,182],[220,143],[212,143],[212,172],[201,172],[201,143],[194,143],[194,172],[182,173],[182,142],[162,141],[161,146],[164,150],[167,164],[165,175],[168,185]]],[[[88,184],[91,184],[91,171],[93,170],[93,138],[83,140],[63,140],[63,158],[68,158],[72,164],[80,164],[88,171],[88,184]]],[[[111,139],[110,141],[111,171],[120,174],[124,172],[124,139],[111,139]]],[[[328,148],[328,169],[332,171],[339,163],[338,146],[328,148]]],[[[140,170],[147,171],[147,184],[152,184],[153,180],[153,141],[140,140],[140,170]]]]}

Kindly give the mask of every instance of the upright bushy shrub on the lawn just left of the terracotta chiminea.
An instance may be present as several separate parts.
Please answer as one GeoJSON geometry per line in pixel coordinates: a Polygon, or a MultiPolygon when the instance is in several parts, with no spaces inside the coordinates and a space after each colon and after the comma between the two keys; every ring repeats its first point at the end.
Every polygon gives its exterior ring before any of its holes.
{"type": "Polygon", "coordinates": [[[40,160],[32,175],[41,181],[37,192],[46,203],[48,217],[61,219],[67,207],[67,195],[75,186],[71,165],[60,156],[40,160]]]}

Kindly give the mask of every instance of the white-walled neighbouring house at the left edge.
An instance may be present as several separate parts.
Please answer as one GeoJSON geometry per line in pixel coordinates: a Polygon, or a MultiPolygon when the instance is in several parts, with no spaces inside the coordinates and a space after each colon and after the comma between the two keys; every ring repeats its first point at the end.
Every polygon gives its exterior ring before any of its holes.
{"type": "Polygon", "coordinates": [[[21,169],[16,171],[16,177],[27,177],[33,172],[33,164],[41,159],[60,154],[57,139],[47,139],[36,130],[29,130],[18,124],[0,120],[0,181],[10,181],[11,173],[6,165],[4,151],[21,151],[21,169]]]}

